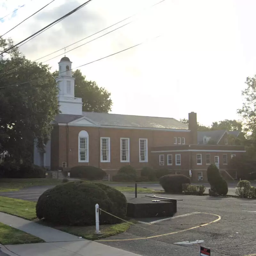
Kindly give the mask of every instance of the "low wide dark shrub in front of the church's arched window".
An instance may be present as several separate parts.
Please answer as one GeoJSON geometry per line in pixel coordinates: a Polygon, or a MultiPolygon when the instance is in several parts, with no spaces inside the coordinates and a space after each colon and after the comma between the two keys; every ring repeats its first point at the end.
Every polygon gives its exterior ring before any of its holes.
{"type": "Polygon", "coordinates": [[[107,173],[95,166],[75,166],[70,170],[70,178],[83,178],[86,180],[102,180],[107,173]]]}

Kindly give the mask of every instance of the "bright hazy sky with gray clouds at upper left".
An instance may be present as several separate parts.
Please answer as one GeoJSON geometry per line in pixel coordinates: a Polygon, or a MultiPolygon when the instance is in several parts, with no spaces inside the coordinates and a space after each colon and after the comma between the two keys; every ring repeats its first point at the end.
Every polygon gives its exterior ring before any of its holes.
{"type": "MultiPolygon", "coordinates": [[[[111,93],[115,114],[188,118],[211,125],[241,119],[241,91],[256,74],[255,0],[92,0],[20,47],[36,60],[133,14],[132,18],[66,48],[72,68],[111,93]],[[71,50],[108,31],[91,43],[71,50]]],[[[0,35],[51,0],[0,0],[0,35]]],[[[18,43],[85,0],[55,0],[4,37],[18,43]]],[[[41,59],[52,71],[64,50],[41,59]],[[61,55],[60,55],[61,54],[61,55]],[[60,55],[56,58],[53,58],[60,55]],[[52,60],[49,60],[53,58],[52,60]],[[49,61],[48,61],[49,60],[49,61]]]]}

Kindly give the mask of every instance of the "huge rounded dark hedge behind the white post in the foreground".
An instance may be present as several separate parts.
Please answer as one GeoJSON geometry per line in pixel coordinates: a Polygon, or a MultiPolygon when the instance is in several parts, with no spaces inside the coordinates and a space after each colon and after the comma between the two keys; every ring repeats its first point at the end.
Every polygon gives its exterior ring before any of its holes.
{"type": "MultiPolygon", "coordinates": [[[[64,225],[95,225],[95,204],[121,219],[126,216],[126,198],[115,188],[87,181],[63,183],[46,190],[36,204],[38,219],[64,225]]],[[[100,224],[121,222],[101,212],[100,224]]]]}

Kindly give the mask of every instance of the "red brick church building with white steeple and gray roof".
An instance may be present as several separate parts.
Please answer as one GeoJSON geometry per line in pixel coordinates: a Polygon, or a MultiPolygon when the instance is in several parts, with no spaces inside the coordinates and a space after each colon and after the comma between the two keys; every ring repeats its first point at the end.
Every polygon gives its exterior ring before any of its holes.
{"type": "Polygon", "coordinates": [[[61,113],[52,122],[45,153],[35,146],[34,164],[53,171],[92,165],[110,177],[121,166],[130,164],[137,170],[150,166],[176,174],[192,172],[193,180],[205,180],[207,165],[216,164],[228,173],[230,159],[245,153],[244,147],[228,143],[227,132],[219,144],[200,143],[194,112],[188,115],[188,125],[166,117],[83,112],[82,99],[75,97],[71,69],[72,62],[63,57],[56,78],[61,113]]]}

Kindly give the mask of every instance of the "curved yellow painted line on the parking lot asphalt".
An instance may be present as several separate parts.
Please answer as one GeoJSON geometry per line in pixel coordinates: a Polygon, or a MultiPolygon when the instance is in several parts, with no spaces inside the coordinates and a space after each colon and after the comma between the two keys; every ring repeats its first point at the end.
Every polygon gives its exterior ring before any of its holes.
{"type": "MultiPolygon", "coordinates": [[[[166,234],[162,234],[162,235],[157,235],[157,236],[148,236],[148,237],[139,237],[139,238],[129,238],[129,239],[96,240],[96,241],[97,241],[97,242],[118,242],[118,241],[145,240],[145,239],[150,239],[150,238],[155,238],[155,237],[169,236],[169,235],[174,235],[174,234],[178,234],[178,233],[181,233],[181,232],[189,231],[189,230],[192,230],[192,229],[195,229],[195,228],[201,228],[201,227],[210,225],[210,224],[212,224],[212,223],[215,223],[215,222],[221,220],[220,215],[217,215],[217,214],[207,213],[207,212],[199,212],[199,213],[214,215],[214,216],[218,217],[218,219],[213,220],[213,221],[208,222],[208,223],[205,223],[205,224],[200,225],[200,226],[195,226],[195,227],[192,227],[192,228],[187,228],[187,229],[183,229],[183,230],[179,230],[179,231],[175,231],[175,232],[171,232],[171,233],[166,233],[166,234]]],[[[246,255],[246,256],[253,256],[253,255],[256,255],[256,254],[246,255]]]]}

